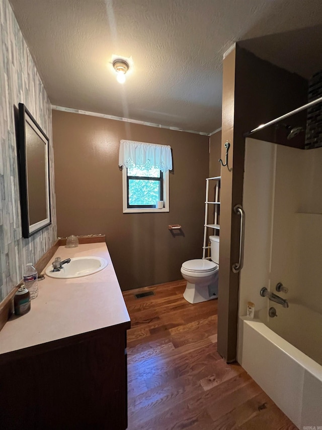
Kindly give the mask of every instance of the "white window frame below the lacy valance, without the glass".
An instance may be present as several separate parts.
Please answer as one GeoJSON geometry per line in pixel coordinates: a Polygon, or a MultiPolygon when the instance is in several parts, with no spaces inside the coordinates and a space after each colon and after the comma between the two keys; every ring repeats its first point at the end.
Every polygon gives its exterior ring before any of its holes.
{"type": "MultiPolygon", "coordinates": [[[[132,178],[132,176],[127,175],[127,168],[123,166],[122,168],[122,181],[123,181],[123,213],[144,213],[144,212],[169,212],[169,170],[162,173],[162,181],[160,183],[160,187],[163,190],[163,201],[164,208],[158,209],[156,207],[151,206],[131,206],[128,207],[128,179],[132,178]]],[[[133,176],[137,180],[155,180],[154,177],[148,176],[133,176]]],[[[159,179],[159,178],[157,178],[159,179]]]]}

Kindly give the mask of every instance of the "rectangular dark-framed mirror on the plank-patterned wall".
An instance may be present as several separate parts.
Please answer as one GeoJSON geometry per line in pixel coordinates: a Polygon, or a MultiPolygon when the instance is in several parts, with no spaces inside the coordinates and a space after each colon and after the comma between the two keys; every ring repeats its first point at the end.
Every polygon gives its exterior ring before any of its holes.
{"type": "Polygon", "coordinates": [[[22,235],[30,237],[51,224],[49,139],[23,103],[17,143],[22,235]]]}

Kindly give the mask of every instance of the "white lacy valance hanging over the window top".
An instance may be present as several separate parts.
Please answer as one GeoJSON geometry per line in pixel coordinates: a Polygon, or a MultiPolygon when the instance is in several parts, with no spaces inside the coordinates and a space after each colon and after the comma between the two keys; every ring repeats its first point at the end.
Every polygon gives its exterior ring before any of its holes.
{"type": "Polygon", "coordinates": [[[121,140],[119,166],[172,170],[172,154],[169,145],[121,140]]]}

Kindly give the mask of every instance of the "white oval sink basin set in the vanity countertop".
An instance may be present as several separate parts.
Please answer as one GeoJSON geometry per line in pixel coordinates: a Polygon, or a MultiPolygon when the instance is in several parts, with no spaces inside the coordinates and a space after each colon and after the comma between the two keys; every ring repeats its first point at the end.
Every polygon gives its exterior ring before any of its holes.
{"type": "Polygon", "coordinates": [[[53,267],[48,266],[45,273],[51,278],[81,278],[82,276],[93,275],[93,273],[103,270],[107,265],[108,262],[101,257],[75,257],[70,259],[70,263],[65,263],[59,272],[53,272],[53,267]]]}

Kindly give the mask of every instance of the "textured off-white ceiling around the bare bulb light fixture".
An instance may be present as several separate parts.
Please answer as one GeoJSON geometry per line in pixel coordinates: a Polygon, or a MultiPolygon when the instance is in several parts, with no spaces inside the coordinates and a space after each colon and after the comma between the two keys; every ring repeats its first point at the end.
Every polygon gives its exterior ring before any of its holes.
{"type": "Polygon", "coordinates": [[[222,57],[233,42],[256,38],[249,49],[273,62],[278,54],[302,76],[312,67],[298,69],[300,55],[311,64],[321,46],[316,33],[310,43],[303,36],[322,24],[321,0],[10,3],[53,105],[204,133],[221,126],[222,57]],[[287,49],[278,35],[285,32],[295,37],[287,49]],[[113,54],[133,59],[124,85],[113,54]]]}

